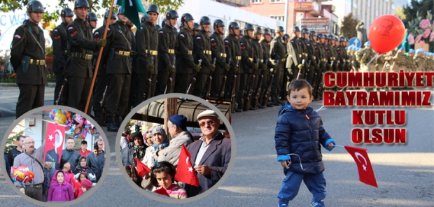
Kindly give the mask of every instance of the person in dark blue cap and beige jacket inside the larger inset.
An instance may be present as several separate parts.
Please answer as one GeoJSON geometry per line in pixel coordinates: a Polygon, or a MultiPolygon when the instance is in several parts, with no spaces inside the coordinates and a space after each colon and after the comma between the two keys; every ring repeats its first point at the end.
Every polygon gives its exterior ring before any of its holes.
{"type": "Polygon", "coordinates": [[[193,142],[193,136],[187,131],[187,117],[184,115],[174,115],[169,117],[167,122],[168,131],[172,140],[167,148],[155,151],[158,156],[158,162],[167,161],[172,163],[175,168],[178,166],[179,154],[181,153],[181,146],[188,145],[193,142]]]}

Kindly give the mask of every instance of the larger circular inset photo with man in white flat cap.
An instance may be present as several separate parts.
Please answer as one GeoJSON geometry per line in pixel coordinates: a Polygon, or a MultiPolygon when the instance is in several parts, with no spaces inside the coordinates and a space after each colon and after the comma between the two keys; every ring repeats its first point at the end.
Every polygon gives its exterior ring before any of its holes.
{"type": "Polygon", "coordinates": [[[180,204],[211,194],[235,160],[230,102],[164,94],[141,103],[118,132],[116,158],[146,197],[180,204]]]}

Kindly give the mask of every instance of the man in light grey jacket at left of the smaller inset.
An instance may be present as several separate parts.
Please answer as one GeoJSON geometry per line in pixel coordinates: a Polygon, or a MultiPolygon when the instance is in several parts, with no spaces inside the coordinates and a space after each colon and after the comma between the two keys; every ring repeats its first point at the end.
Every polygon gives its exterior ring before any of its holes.
{"type": "Polygon", "coordinates": [[[34,173],[35,177],[30,183],[25,183],[25,187],[23,187],[20,182],[15,182],[15,186],[28,197],[42,201],[42,185],[44,181],[42,163],[45,151],[45,141],[43,141],[41,147],[35,150],[34,139],[27,136],[25,138],[24,147],[26,152],[15,157],[13,166],[27,166],[27,168],[34,173]]]}

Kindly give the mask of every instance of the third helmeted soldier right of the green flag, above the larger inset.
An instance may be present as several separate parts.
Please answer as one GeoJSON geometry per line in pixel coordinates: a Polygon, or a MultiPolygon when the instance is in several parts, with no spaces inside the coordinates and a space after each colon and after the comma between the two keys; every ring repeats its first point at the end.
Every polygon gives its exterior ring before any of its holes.
{"type": "Polygon", "coordinates": [[[193,77],[193,69],[197,72],[201,67],[193,62],[193,37],[191,31],[194,23],[193,16],[185,13],[181,16],[183,29],[178,34],[178,52],[176,53],[176,78],[175,92],[185,94],[188,90],[190,79],[193,77]]]}

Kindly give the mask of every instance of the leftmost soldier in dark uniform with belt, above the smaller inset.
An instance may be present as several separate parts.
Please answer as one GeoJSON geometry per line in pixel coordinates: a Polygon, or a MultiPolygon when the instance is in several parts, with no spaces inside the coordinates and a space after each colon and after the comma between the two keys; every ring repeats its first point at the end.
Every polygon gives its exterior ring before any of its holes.
{"type": "Polygon", "coordinates": [[[41,2],[33,0],[27,3],[29,20],[15,30],[10,45],[10,63],[17,73],[20,88],[16,117],[27,111],[43,106],[45,84],[48,71],[45,68],[45,38],[38,27],[44,8],[41,2]]]}

